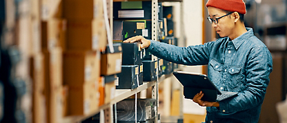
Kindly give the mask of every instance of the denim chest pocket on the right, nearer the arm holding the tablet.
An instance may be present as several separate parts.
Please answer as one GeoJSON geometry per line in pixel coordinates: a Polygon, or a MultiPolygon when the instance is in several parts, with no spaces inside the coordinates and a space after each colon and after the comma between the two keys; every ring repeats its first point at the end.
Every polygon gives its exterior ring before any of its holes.
{"type": "Polygon", "coordinates": [[[240,71],[241,68],[239,66],[232,66],[228,69],[228,73],[230,73],[228,87],[232,89],[232,91],[241,91],[240,89],[243,88],[242,79],[244,79],[244,77],[240,71]]]}

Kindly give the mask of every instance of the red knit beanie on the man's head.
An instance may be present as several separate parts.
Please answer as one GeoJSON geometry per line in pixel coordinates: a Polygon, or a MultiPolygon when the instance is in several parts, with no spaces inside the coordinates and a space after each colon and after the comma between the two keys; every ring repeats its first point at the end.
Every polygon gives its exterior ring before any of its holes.
{"type": "Polygon", "coordinates": [[[246,14],[245,3],[243,0],[208,0],[206,7],[208,8],[209,6],[230,12],[246,14]]]}

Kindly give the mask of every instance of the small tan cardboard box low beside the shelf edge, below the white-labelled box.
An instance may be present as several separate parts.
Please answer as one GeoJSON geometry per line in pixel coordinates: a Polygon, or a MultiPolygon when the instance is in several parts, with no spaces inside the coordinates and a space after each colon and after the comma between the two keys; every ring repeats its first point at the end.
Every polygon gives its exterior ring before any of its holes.
{"type": "Polygon", "coordinates": [[[108,104],[114,99],[115,91],[116,91],[115,82],[109,82],[105,84],[105,104],[108,104]]]}

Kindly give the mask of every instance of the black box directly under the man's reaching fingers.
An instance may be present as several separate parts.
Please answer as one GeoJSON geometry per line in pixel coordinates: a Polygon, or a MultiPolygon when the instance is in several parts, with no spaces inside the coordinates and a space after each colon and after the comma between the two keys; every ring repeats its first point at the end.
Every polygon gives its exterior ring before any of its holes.
{"type": "Polygon", "coordinates": [[[122,43],[123,48],[122,65],[141,65],[143,50],[139,48],[139,43],[122,43]]]}

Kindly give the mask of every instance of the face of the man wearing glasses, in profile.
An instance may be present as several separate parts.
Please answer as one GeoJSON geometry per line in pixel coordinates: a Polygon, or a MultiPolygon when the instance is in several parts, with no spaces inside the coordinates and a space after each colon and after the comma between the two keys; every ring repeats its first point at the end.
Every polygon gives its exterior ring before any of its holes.
{"type": "MultiPolygon", "coordinates": [[[[208,15],[211,19],[216,19],[226,14],[227,13],[224,12],[224,10],[219,8],[208,7],[208,15]]],[[[232,34],[232,29],[235,26],[235,21],[232,20],[232,17],[230,16],[232,16],[232,14],[221,17],[217,20],[218,23],[212,22],[212,27],[215,28],[217,34],[219,34],[220,37],[228,37],[232,34]]]]}

